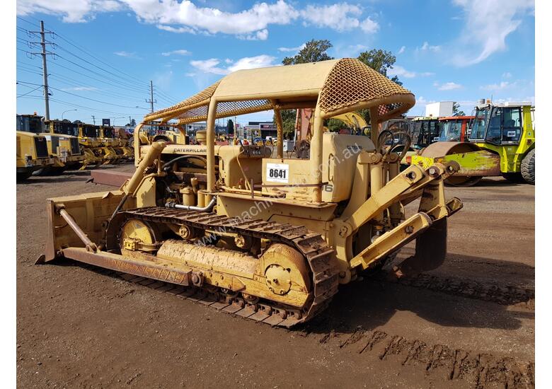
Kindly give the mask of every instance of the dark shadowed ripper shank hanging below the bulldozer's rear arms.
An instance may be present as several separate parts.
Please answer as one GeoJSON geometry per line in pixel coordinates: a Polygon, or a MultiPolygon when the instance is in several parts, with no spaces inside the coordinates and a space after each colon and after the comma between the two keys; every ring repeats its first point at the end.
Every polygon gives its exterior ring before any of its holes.
{"type": "Polygon", "coordinates": [[[447,255],[447,218],[436,220],[430,228],[416,238],[416,252],[406,258],[398,270],[407,276],[436,269],[444,262],[447,255]]]}

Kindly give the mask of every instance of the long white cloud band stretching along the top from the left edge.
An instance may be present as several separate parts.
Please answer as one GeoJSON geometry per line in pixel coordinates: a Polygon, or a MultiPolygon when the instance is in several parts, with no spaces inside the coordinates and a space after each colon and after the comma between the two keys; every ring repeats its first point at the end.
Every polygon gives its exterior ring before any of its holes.
{"type": "Polygon", "coordinates": [[[230,34],[245,40],[267,40],[269,25],[289,25],[302,21],[318,28],[340,32],[360,28],[375,33],[379,24],[364,9],[340,2],[328,5],[294,6],[292,0],[258,2],[242,11],[221,11],[197,6],[190,0],[18,0],[17,13],[62,15],[65,22],[86,22],[96,13],[132,10],[143,23],[172,33],[230,34]]]}

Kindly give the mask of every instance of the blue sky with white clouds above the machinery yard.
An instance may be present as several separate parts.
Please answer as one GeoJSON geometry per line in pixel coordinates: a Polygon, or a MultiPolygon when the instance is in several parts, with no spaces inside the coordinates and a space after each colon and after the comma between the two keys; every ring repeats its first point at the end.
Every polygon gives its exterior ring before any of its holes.
{"type": "MultiPolygon", "coordinates": [[[[47,37],[57,54],[48,57],[51,117],[76,109],[64,118],[140,120],[149,111],[149,80],[155,108],[164,108],[229,71],[281,64],[311,39],[330,40],[336,58],[372,48],[395,54],[389,73],[417,100],[409,115],[442,100],[467,114],[491,95],[534,102],[531,1],[18,0],[17,8],[19,113],[44,114],[42,62],[28,54],[38,51],[28,31],[40,20],[58,34],[47,37]]],[[[272,120],[272,113],[246,120],[272,120]]]]}

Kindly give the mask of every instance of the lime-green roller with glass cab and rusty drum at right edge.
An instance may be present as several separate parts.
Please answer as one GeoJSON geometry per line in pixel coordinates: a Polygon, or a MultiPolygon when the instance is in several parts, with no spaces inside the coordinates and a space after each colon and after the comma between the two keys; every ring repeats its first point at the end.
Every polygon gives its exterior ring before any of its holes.
{"type": "Polygon", "coordinates": [[[412,157],[427,167],[456,161],[460,170],[449,185],[476,185],[481,178],[498,176],[512,182],[535,183],[534,107],[531,102],[493,104],[483,100],[475,109],[468,142],[442,141],[412,157]]]}

